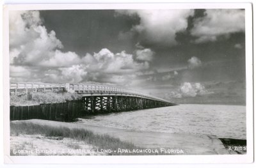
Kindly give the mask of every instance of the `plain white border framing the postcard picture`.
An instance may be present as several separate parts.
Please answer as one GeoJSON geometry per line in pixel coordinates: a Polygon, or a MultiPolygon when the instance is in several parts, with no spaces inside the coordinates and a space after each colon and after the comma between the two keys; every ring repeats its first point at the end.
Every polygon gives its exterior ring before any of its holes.
{"type": "Polygon", "coordinates": [[[250,3],[155,3],[155,4],[15,4],[5,5],[3,15],[3,84],[4,84],[4,162],[22,164],[209,164],[253,162],[253,65],[252,65],[252,4],[250,3]],[[246,9],[246,155],[175,155],[175,156],[88,156],[88,157],[10,157],[9,97],[9,10],[85,10],[85,9],[246,9]]]}

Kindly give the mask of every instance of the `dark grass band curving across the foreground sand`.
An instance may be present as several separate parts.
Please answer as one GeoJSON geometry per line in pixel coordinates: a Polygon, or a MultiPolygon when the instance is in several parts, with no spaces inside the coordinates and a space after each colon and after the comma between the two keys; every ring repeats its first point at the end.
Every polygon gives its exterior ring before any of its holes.
{"type": "MultiPolygon", "coordinates": [[[[111,149],[117,150],[118,148],[122,149],[143,149],[137,146],[134,146],[131,142],[123,142],[120,139],[111,137],[107,134],[98,135],[93,134],[90,130],[84,130],[83,128],[67,128],[61,126],[49,126],[49,125],[40,125],[29,122],[17,122],[10,123],[10,134],[19,135],[19,134],[41,134],[46,137],[68,137],[71,139],[76,139],[78,141],[84,141],[88,144],[95,146],[99,149],[111,149]]],[[[74,146],[74,148],[78,148],[74,146]]],[[[113,153],[115,155],[120,155],[118,153],[113,153]]],[[[132,155],[132,153],[131,153],[132,155]]],[[[136,153],[136,155],[143,155],[143,153],[136,153]]]]}

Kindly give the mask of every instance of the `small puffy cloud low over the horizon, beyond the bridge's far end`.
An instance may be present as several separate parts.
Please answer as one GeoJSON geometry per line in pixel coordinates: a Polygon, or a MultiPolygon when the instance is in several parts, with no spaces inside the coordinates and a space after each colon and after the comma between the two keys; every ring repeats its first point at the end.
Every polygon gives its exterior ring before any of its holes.
{"type": "Polygon", "coordinates": [[[185,98],[185,97],[204,96],[212,93],[213,92],[207,91],[203,84],[184,82],[183,84],[180,85],[179,91],[172,91],[169,94],[169,97],[185,98]]]}

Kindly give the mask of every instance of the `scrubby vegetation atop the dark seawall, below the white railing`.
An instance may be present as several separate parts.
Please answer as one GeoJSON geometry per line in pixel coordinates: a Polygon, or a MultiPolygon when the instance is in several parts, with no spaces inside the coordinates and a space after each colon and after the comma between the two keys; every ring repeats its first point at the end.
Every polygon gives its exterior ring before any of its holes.
{"type": "Polygon", "coordinates": [[[23,95],[10,95],[10,105],[35,105],[40,103],[63,103],[70,100],[79,100],[81,95],[69,93],[67,91],[59,92],[36,92],[23,95]]]}

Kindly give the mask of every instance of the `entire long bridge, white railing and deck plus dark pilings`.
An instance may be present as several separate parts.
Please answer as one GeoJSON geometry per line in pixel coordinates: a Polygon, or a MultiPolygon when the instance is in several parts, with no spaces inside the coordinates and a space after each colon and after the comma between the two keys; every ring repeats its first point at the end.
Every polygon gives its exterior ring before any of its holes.
{"type": "Polygon", "coordinates": [[[48,84],[40,82],[10,82],[10,94],[35,93],[38,91],[60,91],[81,95],[83,110],[87,113],[132,111],[176,105],[156,96],[132,89],[100,84],[48,84]]]}

